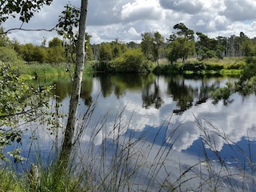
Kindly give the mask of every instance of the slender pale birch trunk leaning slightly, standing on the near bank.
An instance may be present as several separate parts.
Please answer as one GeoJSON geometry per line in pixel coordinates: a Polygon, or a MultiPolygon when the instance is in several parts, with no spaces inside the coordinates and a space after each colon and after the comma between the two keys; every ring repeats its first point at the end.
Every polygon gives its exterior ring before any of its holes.
{"type": "Polygon", "coordinates": [[[81,0],[81,14],[79,18],[79,31],[78,42],[76,50],[76,66],[74,71],[74,80],[72,94],[70,98],[70,110],[66,124],[66,130],[62,143],[62,150],[60,154],[60,162],[62,167],[67,166],[72,150],[72,139],[74,137],[74,128],[77,120],[78,102],[80,99],[81,86],[82,86],[82,74],[86,60],[85,51],[85,34],[86,34],[86,19],[87,19],[87,7],[88,0],[81,0]]]}

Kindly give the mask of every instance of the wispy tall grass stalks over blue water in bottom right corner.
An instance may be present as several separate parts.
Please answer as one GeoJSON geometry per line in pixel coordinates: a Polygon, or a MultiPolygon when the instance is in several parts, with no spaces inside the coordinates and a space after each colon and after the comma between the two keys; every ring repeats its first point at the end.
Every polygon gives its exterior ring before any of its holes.
{"type": "Polygon", "coordinates": [[[202,151],[205,154],[206,168],[208,170],[208,183],[213,191],[254,191],[255,186],[255,159],[252,158],[254,151],[250,147],[250,137],[248,140],[248,149],[243,149],[235,142],[230,140],[224,130],[219,129],[206,120],[196,118],[198,127],[202,133],[202,142],[205,147],[202,151]],[[223,157],[219,150],[219,139],[226,142],[230,151],[234,151],[238,156],[242,154],[243,158],[234,155],[231,159],[223,157]],[[210,149],[214,153],[216,161],[211,161],[210,149]],[[249,154],[246,153],[249,151],[249,154]],[[230,161],[236,162],[237,166],[230,166],[230,161]]]}

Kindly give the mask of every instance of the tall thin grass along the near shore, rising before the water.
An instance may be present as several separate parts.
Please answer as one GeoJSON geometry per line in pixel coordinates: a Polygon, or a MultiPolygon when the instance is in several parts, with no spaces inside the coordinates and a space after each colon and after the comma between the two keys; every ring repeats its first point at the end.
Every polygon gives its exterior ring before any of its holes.
{"type": "MultiPolygon", "coordinates": [[[[56,149],[55,158],[49,158],[53,159],[50,164],[44,162],[45,158],[40,155],[38,161],[34,161],[38,164],[40,173],[34,191],[256,190],[256,167],[252,155],[246,156],[245,151],[230,141],[223,130],[210,122],[195,118],[201,131],[204,156],[191,160],[187,156],[178,156],[180,154],[173,149],[182,125],[172,127],[171,116],[157,130],[153,128],[137,132],[130,130],[133,115],[128,122],[125,121],[125,109],[117,112],[111,124],[107,121],[107,114],[93,122],[96,107],[98,104],[93,102],[79,118],[73,152],[66,170],[60,170],[58,166],[59,137],[62,130],[56,130],[52,147],[56,149]],[[230,150],[245,155],[245,162],[238,164],[242,166],[229,165],[219,152],[218,139],[223,139],[230,150]]],[[[249,137],[248,139],[250,140],[249,137]]],[[[250,153],[253,153],[250,142],[248,147],[250,153]]],[[[26,179],[26,175],[24,177],[26,179]]],[[[10,183],[8,179],[3,178],[7,184],[10,183]]],[[[15,176],[10,177],[10,180],[17,181],[15,176]]],[[[10,187],[10,191],[33,191],[28,177],[26,180],[27,182],[23,178],[18,179],[17,190],[6,185],[10,187]]],[[[0,191],[7,189],[5,187],[0,184],[0,191]]]]}

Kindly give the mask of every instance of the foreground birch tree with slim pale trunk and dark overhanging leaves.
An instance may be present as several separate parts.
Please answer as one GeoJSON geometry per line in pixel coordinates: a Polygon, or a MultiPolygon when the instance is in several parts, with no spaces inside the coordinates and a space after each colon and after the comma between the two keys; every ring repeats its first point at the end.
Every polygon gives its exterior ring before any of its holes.
{"type": "MultiPolygon", "coordinates": [[[[5,22],[6,19],[10,17],[15,17],[19,15],[19,19],[22,22],[29,22],[30,18],[33,17],[34,12],[37,12],[44,5],[50,5],[53,0],[14,0],[14,1],[0,1],[0,24],[5,22]]],[[[62,145],[62,151],[60,154],[60,166],[66,169],[68,165],[68,159],[70,158],[70,153],[72,150],[72,138],[74,136],[74,128],[76,123],[76,114],[78,109],[78,101],[81,94],[81,85],[82,85],[82,74],[85,64],[85,39],[86,39],[86,18],[87,18],[87,6],[88,0],[81,0],[81,8],[72,10],[71,14],[74,15],[74,18],[70,23],[66,20],[66,16],[69,16],[70,11],[64,13],[64,17],[59,18],[59,22],[62,21],[61,28],[63,31],[69,33],[70,38],[74,38],[73,31],[68,30],[68,26],[78,26],[78,38],[76,42],[76,65],[74,70],[74,79],[73,79],[73,89],[70,98],[70,110],[67,119],[67,125],[65,130],[64,141],[62,145]],[[76,13],[78,11],[78,14],[76,13]],[[76,17],[78,16],[78,17],[76,17]],[[63,20],[64,19],[64,20],[63,20]],[[62,163],[63,162],[63,163],[62,163]]]]}

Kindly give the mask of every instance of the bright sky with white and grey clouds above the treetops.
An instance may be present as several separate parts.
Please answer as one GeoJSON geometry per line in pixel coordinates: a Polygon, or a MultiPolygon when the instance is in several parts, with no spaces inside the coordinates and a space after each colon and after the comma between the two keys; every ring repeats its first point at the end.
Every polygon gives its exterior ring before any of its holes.
{"type": "MultiPolygon", "coordinates": [[[[9,19],[2,26],[5,30],[22,25],[26,29],[51,29],[58,22],[58,15],[66,3],[80,7],[80,0],[54,0],[35,14],[29,23],[9,19]]],[[[245,33],[256,37],[255,0],[89,0],[86,32],[92,35],[91,43],[140,42],[141,34],[158,31],[168,38],[175,32],[174,25],[183,22],[194,32],[210,38],[228,37],[245,33]]],[[[43,37],[57,37],[55,32],[12,31],[11,39],[18,42],[41,44],[43,37]]]]}

